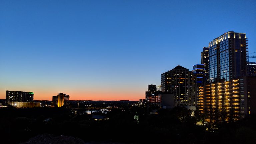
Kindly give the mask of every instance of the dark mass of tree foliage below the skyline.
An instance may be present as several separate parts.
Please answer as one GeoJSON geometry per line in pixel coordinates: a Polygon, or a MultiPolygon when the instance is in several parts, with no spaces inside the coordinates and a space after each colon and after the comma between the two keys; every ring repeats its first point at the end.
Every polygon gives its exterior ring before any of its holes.
{"type": "Polygon", "coordinates": [[[237,122],[216,123],[216,128],[207,131],[207,124],[200,121],[197,113],[184,107],[158,110],[158,114],[146,114],[144,107],[113,109],[108,119],[95,121],[92,115],[75,115],[68,108],[4,108],[0,109],[0,143],[20,143],[41,134],[53,137],[65,135],[85,142],[120,143],[173,143],[215,144],[255,143],[256,117],[237,122]],[[135,119],[138,116],[138,123],[135,119]]]}

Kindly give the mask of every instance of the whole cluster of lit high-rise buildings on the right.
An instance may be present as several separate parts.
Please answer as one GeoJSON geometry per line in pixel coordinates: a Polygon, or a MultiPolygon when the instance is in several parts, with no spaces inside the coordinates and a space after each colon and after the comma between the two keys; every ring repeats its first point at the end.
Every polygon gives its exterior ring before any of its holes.
{"type": "Polygon", "coordinates": [[[203,48],[201,64],[192,71],[177,66],[161,74],[158,88],[171,99],[153,97],[160,91],[148,88],[148,107],[168,108],[163,106],[168,103],[206,115],[224,112],[225,120],[256,113],[256,63],[249,62],[246,34],[229,31],[215,38],[203,48]]]}

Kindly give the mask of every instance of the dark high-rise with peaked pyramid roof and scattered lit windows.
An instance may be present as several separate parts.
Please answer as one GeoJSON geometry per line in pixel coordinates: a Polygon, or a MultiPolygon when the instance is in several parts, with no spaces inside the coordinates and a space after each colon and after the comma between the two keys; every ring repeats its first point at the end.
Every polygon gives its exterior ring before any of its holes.
{"type": "Polygon", "coordinates": [[[174,94],[175,106],[195,106],[196,80],[192,71],[176,66],[174,69],[161,74],[161,91],[174,94]]]}

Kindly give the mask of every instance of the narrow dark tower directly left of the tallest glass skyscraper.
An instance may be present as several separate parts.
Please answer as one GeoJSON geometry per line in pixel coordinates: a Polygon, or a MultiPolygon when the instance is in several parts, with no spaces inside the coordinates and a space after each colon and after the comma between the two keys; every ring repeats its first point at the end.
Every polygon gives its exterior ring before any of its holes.
{"type": "Polygon", "coordinates": [[[201,64],[204,64],[205,76],[207,81],[209,81],[209,48],[203,47],[203,51],[201,52],[201,64]]]}

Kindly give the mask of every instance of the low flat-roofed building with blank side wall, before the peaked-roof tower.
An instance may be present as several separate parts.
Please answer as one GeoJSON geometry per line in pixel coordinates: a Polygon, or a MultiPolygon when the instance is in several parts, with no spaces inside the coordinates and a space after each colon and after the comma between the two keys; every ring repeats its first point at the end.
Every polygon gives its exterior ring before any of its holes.
{"type": "Polygon", "coordinates": [[[153,109],[168,109],[174,107],[174,95],[162,91],[153,92],[148,96],[149,107],[153,109]]]}

